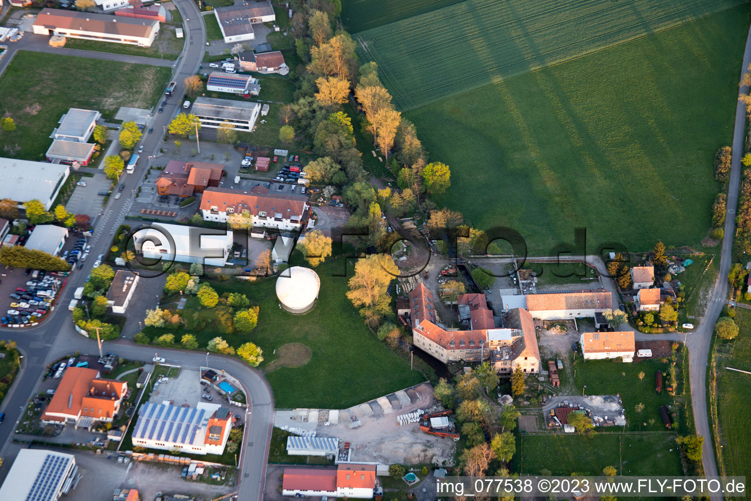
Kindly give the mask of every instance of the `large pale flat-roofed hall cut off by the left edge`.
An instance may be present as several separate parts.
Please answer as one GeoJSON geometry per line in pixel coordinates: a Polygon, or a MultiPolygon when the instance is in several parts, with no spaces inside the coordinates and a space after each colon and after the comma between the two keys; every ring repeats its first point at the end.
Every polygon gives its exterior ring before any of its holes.
{"type": "Polygon", "coordinates": [[[0,198],[19,204],[38,200],[44,210],[50,210],[70,174],[71,168],[65,164],[0,158],[0,198]]]}

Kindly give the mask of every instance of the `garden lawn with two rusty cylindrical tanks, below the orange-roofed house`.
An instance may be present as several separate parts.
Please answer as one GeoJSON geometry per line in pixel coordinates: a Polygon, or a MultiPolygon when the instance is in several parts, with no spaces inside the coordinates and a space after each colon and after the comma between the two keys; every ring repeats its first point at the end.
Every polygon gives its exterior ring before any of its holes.
{"type": "MultiPolygon", "coordinates": [[[[602,335],[602,334],[601,334],[602,335]]],[[[641,343],[637,343],[641,344],[641,343]]],[[[684,352],[684,353],[687,353],[684,352]]],[[[623,400],[623,410],[626,414],[626,430],[667,430],[662,424],[659,415],[659,406],[672,406],[674,412],[673,426],[671,430],[680,430],[689,433],[693,424],[687,422],[692,418],[691,392],[684,388],[681,376],[681,356],[677,358],[677,388],[676,396],[673,397],[667,391],[668,387],[668,362],[651,358],[635,364],[623,364],[610,360],[584,361],[581,355],[575,358],[576,377],[575,384],[579,391],[584,390],[587,395],[615,395],[620,394],[623,400]],[[662,370],[662,392],[655,391],[655,373],[662,370]],[[644,379],[638,378],[638,373],[644,372],[644,379]],[[585,389],[584,386],[587,386],[585,389]],[[635,406],[644,404],[644,411],[637,413],[635,406]],[[685,409],[689,409],[686,412],[685,409]],[[650,424],[653,419],[653,424],[650,424]]],[[[613,428],[611,428],[613,430],[613,428]]]]}

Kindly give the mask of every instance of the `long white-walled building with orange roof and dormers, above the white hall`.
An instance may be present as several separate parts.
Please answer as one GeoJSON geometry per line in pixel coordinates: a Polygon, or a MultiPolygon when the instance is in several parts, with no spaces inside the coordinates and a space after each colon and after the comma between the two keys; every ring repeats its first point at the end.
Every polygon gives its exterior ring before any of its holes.
{"type": "Polygon", "coordinates": [[[204,221],[227,222],[234,214],[247,211],[254,227],[297,231],[303,228],[310,209],[306,195],[276,195],[265,186],[245,191],[208,188],[201,198],[204,221]]]}

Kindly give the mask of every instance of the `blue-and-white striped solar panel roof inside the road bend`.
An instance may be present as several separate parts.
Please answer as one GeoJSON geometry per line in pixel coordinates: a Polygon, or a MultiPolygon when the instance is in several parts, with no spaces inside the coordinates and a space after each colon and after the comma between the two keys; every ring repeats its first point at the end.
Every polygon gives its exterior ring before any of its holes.
{"type": "Polygon", "coordinates": [[[204,420],[208,421],[204,409],[146,403],[138,415],[133,438],[203,445],[204,436],[200,432],[204,420]]]}

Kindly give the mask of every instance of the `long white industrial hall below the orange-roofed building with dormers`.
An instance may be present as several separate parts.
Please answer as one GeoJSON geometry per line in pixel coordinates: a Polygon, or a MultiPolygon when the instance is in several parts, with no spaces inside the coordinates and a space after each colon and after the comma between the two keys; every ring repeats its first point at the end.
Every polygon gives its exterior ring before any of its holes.
{"type": "Polygon", "coordinates": [[[230,258],[232,231],[152,223],[133,236],[136,252],[157,261],[224,266],[230,258]]]}

